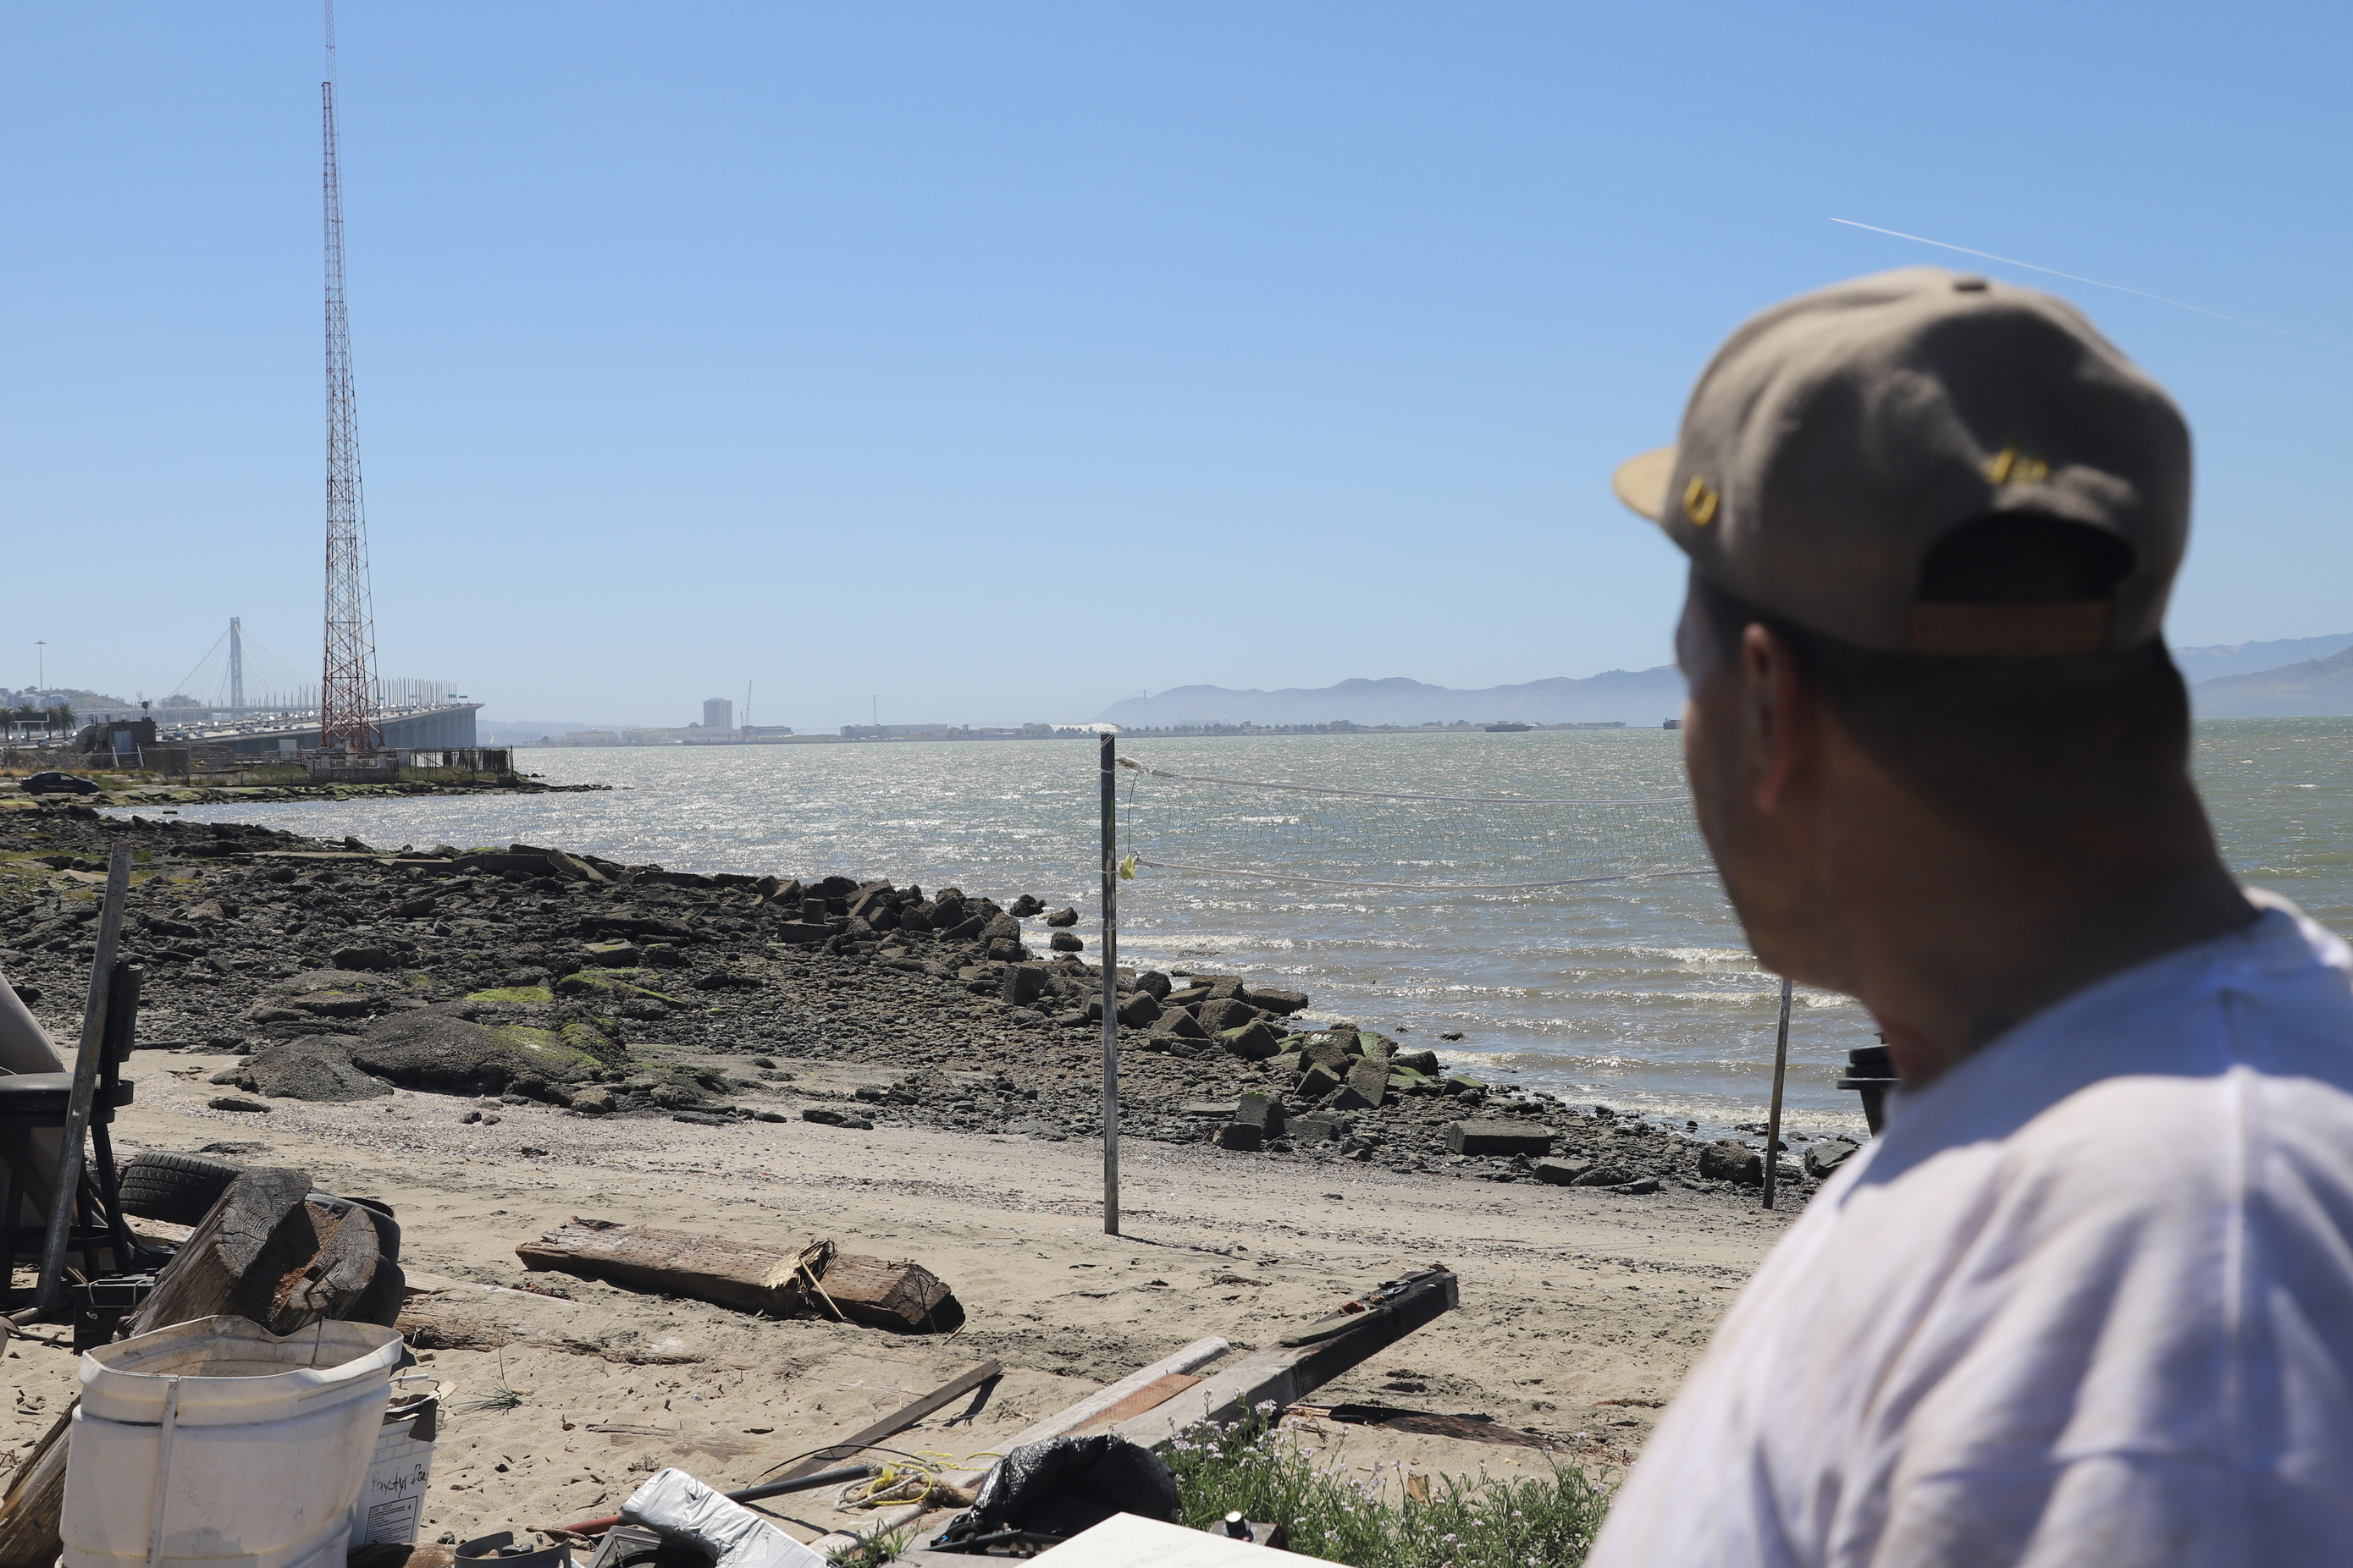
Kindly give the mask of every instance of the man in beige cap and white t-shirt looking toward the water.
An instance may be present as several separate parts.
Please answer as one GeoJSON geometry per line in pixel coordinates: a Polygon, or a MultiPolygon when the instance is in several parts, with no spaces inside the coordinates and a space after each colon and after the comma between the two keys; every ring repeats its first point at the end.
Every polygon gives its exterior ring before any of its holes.
{"type": "Polygon", "coordinates": [[[1777,306],[1619,496],[1689,555],[1699,825],[1904,1088],[1593,1568],[2353,1561],[2353,952],[2224,870],[2172,400],[1932,268],[1777,306]]]}

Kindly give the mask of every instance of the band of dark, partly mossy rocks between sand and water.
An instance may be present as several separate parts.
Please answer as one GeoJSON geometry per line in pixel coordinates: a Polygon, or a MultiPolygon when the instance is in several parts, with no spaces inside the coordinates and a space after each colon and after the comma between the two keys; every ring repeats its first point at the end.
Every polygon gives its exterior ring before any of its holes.
{"type": "MultiPolygon", "coordinates": [[[[71,1041],[113,846],[141,1046],[240,1051],[216,1110],[393,1084],[668,1117],[1101,1135],[1101,971],[1075,910],[962,889],[671,872],[508,844],[384,851],[249,823],[0,813],[0,969],[71,1041]]],[[[1249,976],[1120,971],[1122,1138],[1753,1206],[1760,1138],[1704,1143],[1454,1072],[1249,976]]],[[[584,1128],[586,1133],[588,1128],[584,1128]]],[[[1852,1145],[1781,1159],[1800,1204],[1852,1145]]]]}

